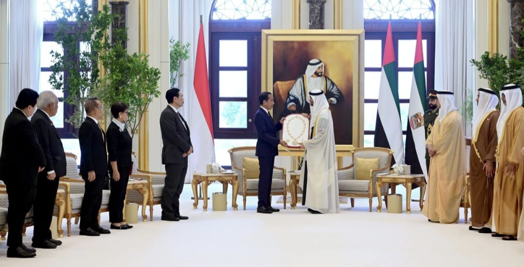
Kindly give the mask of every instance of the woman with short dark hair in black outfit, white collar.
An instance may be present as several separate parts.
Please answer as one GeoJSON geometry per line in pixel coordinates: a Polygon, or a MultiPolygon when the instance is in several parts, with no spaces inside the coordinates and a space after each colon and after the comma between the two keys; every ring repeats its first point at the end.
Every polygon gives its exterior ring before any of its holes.
{"type": "Polygon", "coordinates": [[[111,196],[109,198],[109,220],[111,229],[133,228],[123,222],[124,199],[126,198],[127,182],[133,162],[131,150],[133,139],[126,129],[125,121],[128,118],[128,107],[122,102],[111,106],[113,120],[107,127],[108,170],[111,175],[111,196]]]}

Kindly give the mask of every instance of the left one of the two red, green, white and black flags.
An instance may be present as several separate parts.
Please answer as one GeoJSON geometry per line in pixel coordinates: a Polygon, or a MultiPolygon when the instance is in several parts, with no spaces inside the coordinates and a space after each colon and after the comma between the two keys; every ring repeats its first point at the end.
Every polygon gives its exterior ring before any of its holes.
{"type": "Polygon", "coordinates": [[[395,66],[395,50],[391,36],[391,22],[388,24],[386,45],[382,61],[382,74],[378,92],[377,123],[375,125],[375,147],[393,150],[395,162],[404,159],[404,143],[402,141],[402,124],[398,101],[397,68],[395,66]]]}

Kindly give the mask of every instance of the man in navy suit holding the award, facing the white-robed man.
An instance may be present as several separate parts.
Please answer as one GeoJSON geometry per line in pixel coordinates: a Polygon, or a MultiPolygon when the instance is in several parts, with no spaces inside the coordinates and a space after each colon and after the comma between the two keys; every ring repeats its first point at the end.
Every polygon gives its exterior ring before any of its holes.
{"type": "Polygon", "coordinates": [[[257,128],[257,147],[255,155],[258,157],[260,175],[258,176],[258,207],[257,213],[279,212],[278,208],[271,207],[269,197],[271,194],[271,182],[275,156],[278,155],[278,145],[286,146],[286,142],[277,138],[277,131],[282,129],[284,118],[274,123],[269,110],[275,102],[273,95],[262,92],[258,96],[260,107],[255,114],[255,127],[257,128]]]}

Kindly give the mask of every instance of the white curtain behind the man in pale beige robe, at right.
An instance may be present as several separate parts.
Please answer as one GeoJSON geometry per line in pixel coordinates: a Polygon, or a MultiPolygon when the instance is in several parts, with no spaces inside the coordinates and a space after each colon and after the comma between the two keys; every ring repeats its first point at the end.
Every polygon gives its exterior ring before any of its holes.
{"type": "Polygon", "coordinates": [[[473,0],[436,0],[435,5],[435,90],[453,92],[461,111],[466,88],[475,91],[469,62],[474,58],[473,0]]]}

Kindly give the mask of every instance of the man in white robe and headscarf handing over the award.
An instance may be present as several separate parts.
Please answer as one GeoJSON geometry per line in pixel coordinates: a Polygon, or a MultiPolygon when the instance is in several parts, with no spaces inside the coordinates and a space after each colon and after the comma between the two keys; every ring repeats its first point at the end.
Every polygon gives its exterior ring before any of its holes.
{"type": "Polygon", "coordinates": [[[311,139],[305,140],[304,163],[299,185],[302,205],[312,214],[340,213],[339,183],[333,118],[329,103],[321,90],[309,93],[311,105],[311,139]]]}

